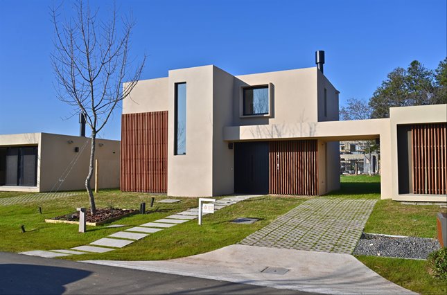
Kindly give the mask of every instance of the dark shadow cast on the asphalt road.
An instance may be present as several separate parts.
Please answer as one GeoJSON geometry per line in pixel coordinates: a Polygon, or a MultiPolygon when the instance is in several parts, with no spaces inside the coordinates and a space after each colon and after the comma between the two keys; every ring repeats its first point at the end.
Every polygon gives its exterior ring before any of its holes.
{"type": "Polygon", "coordinates": [[[64,285],[86,278],[91,271],[41,265],[0,265],[0,294],[62,294],[64,285]]]}

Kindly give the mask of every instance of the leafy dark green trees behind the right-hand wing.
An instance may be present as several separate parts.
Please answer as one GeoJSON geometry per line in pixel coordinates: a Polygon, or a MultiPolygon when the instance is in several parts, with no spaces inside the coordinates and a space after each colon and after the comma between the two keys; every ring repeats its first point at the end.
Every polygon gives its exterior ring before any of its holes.
{"type": "Polygon", "coordinates": [[[445,60],[439,64],[436,75],[417,60],[406,70],[394,69],[369,100],[371,118],[388,118],[390,107],[446,103],[445,74],[445,60]]]}

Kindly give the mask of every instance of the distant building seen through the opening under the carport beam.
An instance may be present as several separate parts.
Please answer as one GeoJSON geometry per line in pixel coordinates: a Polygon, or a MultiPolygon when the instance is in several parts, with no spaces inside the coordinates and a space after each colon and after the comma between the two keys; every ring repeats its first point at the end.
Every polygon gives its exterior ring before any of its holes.
{"type": "Polygon", "coordinates": [[[371,141],[340,141],[340,173],[345,175],[377,174],[378,154],[371,141]],[[371,153],[367,152],[371,149],[371,153]]]}

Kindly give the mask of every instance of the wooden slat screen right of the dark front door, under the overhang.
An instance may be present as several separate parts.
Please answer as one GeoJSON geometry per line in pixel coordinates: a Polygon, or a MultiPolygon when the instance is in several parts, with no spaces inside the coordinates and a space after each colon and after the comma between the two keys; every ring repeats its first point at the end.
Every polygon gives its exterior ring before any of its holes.
{"type": "Polygon", "coordinates": [[[270,141],[271,194],[318,195],[317,141],[270,141]]]}

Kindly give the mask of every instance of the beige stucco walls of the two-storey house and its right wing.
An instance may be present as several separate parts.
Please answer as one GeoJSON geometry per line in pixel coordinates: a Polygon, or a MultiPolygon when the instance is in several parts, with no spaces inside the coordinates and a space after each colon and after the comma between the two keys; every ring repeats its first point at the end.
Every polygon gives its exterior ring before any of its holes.
{"type": "Polygon", "coordinates": [[[338,94],[316,67],[231,75],[216,66],[169,71],[143,80],[123,102],[123,114],[168,111],[168,195],[234,193],[234,150],[253,141],[317,140],[319,195],[340,188],[338,141],[380,140],[383,199],[439,201],[399,195],[396,126],[446,122],[446,105],[392,108],[384,119],[339,121],[338,94]],[[174,154],[175,83],[186,82],[186,154],[174,154]],[[244,87],[268,87],[268,114],[243,116],[244,87]]]}

